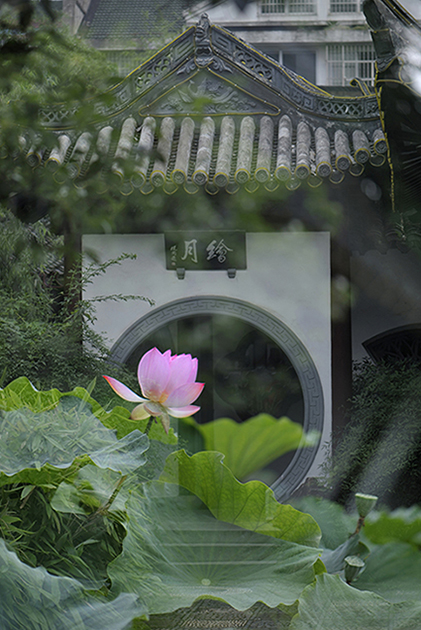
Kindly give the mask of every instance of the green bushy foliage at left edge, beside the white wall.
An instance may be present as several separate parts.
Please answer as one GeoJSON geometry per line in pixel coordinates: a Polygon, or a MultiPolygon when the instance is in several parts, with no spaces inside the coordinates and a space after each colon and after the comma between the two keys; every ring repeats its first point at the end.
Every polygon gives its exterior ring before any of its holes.
{"type": "MultiPolygon", "coordinates": [[[[129,255],[87,264],[81,277],[72,279],[69,290],[64,286],[63,239],[52,233],[46,220],[25,226],[11,212],[0,210],[0,222],[3,383],[25,375],[38,389],[70,390],[76,385],[89,387],[94,381],[95,396],[103,405],[116,401],[101,375],[111,374],[129,386],[135,386],[136,378],[110,364],[104,341],[91,328],[95,304],[81,300],[75,308],[72,302],[94,278],[129,255]]],[[[144,298],[114,295],[108,299],[144,298]]]]}

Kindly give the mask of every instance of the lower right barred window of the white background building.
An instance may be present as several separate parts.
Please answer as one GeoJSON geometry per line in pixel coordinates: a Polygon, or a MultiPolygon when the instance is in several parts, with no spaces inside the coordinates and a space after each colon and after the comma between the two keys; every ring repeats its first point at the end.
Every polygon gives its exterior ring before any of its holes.
{"type": "Polygon", "coordinates": [[[349,85],[355,78],[372,85],[374,59],[372,44],[329,44],[328,85],[349,85]]]}

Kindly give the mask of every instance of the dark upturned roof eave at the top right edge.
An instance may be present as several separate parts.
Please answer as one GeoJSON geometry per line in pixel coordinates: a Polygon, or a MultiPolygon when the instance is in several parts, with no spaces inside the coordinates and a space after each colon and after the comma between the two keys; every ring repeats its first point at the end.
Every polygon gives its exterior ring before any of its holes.
{"type": "Polygon", "coordinates": [[[363,9],[376,49],[392,203],[413,211],[421,200],[421,28],[395,0],[365,0],[363,9]]]}

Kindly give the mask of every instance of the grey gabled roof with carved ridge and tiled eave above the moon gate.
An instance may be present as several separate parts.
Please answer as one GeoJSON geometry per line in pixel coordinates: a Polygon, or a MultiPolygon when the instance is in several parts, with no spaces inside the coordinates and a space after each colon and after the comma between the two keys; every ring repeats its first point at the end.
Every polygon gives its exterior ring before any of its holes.
{"type": "Polygon", "coordinates": [[[210,194],[244,186],[340,183],[387,145],[375,95],[333,96],[259,53],[206,15],[113,89],[118,106],[98,108],[107,124],[77,136],[69,113],[45,111],[57,134],[49,153],[28,153],[75,184],[98,154],[121,177],[121,192],[210,194]],[[127,167],[135,159],[134,169],[127,167]]]}

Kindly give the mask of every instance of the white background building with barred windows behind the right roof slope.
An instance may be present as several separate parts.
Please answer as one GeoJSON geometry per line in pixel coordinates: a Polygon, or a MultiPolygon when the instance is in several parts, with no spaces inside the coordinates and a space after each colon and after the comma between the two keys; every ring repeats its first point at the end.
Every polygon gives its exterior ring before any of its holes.
{"type": "MultiPolygon", "coordinates": [[[[358,0],[260,0],[244,11],[230,1],[206,10],[212,22],[312,83],[373,82],[374,49],[358,0]]],[[[197,17],[193,9],[187,23],[197,17]]]]}

